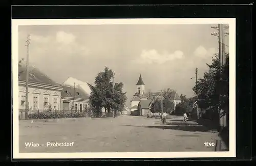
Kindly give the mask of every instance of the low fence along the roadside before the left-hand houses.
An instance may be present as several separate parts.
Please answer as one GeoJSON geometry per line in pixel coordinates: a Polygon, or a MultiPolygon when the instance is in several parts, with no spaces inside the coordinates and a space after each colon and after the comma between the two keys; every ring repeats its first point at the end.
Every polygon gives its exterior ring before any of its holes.
{"type": "MultiPolygon", "coordinates": [[[[54,114],[57,114],[58,112],[78,112],[78,113],[84,113],[84,117],[96,117],[91,112],[84,112],[80,110],[50,110],[51,112],[54,112],[54,114]]],[[[40,113],[40,112],[49,112],[49,110],[42,110],[42,109],[29,109],[28,111],[28,119],[30,119],[30,115],[34,113],[40,113]]],[[[115,113],[115,117],[120,116],[119,112],[115,113]]],[[[113,117],[112,113],[105,113],[101,112],[99,117],[113,117]]],[[[25,120],[26,119],[26,110],[25,109],[19,109],[19,120],[25,120]]]]}

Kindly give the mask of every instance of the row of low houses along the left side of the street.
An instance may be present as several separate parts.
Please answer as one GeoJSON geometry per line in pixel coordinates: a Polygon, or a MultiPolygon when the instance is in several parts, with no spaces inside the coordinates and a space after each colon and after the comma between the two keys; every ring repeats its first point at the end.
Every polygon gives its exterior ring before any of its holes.
{"type": "MultiPolygon", "coordinates": [[[[34,66],[29,66],[28,103],[31,110],[78,110],[90,106],[92,86],[69,77],[58,84],[34,66]]],[[[26,108],[26,66],[19,66],[19,110],[26,108]]]]}

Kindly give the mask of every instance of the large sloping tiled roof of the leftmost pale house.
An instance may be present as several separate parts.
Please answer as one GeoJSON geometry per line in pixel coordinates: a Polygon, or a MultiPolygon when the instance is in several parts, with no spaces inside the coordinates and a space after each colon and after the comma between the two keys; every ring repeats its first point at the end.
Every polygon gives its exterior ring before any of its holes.
{"type": "MultiPolygon", "coordinates": [[[[29,81],[30,82],[37,82],[42,84],[54,85],[58,86],[58,84],[53,81],[50,77],[46,74],[42,73],[39,69],[35,68],[34,66],[29,66],[29,81]]],[[[19,78],[18,80],[26,81],[26,65],[20,64],[18,67],[19,78]]]]}

